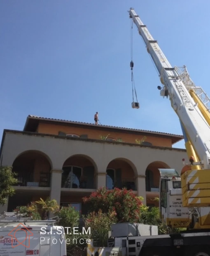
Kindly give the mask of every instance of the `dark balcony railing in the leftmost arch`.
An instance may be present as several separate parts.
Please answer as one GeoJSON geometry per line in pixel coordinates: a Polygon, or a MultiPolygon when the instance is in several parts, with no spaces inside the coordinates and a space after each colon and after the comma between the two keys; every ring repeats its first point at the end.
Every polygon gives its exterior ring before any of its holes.
{"type": "Polygon", "coordinates": [[[17,172],[17,184],[15,186],[21,187],[50,187],[50,173],[40,172],[39,176],[34,179],[34,173],[18,173],[17,172]]]}

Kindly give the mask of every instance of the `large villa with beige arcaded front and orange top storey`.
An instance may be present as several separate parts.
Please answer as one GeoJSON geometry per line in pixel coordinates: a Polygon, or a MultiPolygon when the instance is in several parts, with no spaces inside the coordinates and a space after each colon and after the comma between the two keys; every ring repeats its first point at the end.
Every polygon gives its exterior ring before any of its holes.
{"type": "Polygon", "coordinates": [[[132,189],[155,205],[159,168],[181,172],[184,149],[172,148],[180,135],[28,116],[23,131],[4,130],[2,166],[18,174],[16,194],[0,211],[40,198],[72,204],[86,213],[82,197],[100,187],[132,189]],[[145,139],[142,144],[139,141],[145,139]]]}

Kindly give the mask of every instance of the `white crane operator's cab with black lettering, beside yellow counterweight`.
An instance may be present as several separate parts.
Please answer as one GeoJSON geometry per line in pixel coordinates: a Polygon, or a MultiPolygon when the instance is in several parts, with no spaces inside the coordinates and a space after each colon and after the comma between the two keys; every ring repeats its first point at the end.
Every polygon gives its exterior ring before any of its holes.
{"type": "Polygon", "coordinates": [[[159,169],[160,218],[169,227],[187,227],[189,209],[182,206],[181,177],[175,169],[159,169]]]}

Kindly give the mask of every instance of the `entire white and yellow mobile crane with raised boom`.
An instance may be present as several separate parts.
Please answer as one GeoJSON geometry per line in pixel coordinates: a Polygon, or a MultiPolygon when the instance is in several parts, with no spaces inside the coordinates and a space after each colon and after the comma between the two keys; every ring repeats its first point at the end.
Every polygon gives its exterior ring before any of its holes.
{"type": "Polygon", "coordinates": [[[185,66],[170,65],[133,8],[128,12],[159,73],[160,95],[169,98],[180,119],[190,163],[180,175],[175,169],[159,169],[160,218],[170,227],[187,230],[179,234],[148,235],[147,225],[141,225],[140,229],[135,223],[112,225],[115,247],[106,251],[121,256],[210,256],[210,99],[190,79],[185,66]]]}

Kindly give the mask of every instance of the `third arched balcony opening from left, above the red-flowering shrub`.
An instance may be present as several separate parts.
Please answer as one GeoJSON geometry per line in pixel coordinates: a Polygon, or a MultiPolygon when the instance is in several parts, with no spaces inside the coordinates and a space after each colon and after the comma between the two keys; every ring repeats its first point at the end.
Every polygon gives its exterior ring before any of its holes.
{"type": "Polygon", "coordinates": [[[106,170],[106,188],[136,190],[135,174],[137,170],[131,161],[124,158],[112,160],[106,170]]]}

